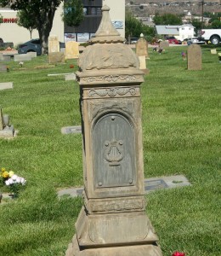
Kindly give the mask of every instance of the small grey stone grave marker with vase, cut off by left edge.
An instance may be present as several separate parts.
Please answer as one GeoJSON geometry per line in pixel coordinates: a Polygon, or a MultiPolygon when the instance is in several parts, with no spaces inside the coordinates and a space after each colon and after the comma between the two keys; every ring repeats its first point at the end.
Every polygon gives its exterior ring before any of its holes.
{"type": "Polygon", "coordinates": [[[14,126],[9,125],[9,116],[2,113],[2,108],[0,108],[0,137],[14,137],[14,126]]]}

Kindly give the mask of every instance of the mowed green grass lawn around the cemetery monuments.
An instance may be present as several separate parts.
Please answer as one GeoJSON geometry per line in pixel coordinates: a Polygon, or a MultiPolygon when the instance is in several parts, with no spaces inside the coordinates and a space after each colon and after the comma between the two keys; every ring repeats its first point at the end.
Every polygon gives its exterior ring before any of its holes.
{"type": "MultiPolygon", "coordinates": [[[[186,49],[149,49],[141,90],[144,176],[183,174],[192,185],[150,193],[146,212],[163,255],[220,256],[221,63],[204,46],[202,70],[189,71],[181,57],[186,49]]],[[[0,82],[13,81],[14,89],[0,90],[0,105],[19,134],[0,139],[0,167],[27,183],[18,200],[0,205],[0,255],[65,255],[82,199],[58,199],[56,192],[82,186],[82,138],[60,129],[81,124],[79,86],[48,74],[77,71],[77,62],[48,65],[40,56],[8,67],[0,82]]]]}

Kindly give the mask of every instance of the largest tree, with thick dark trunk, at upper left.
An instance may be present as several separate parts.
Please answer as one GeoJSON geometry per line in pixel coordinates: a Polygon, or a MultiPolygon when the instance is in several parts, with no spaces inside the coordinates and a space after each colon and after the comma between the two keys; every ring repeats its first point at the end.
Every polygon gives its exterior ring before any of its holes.
{"type": "Polygon", "coordinates": [[[10,5],[11,9],[31,12],[31,15],[28,15],[28,17],[30,17],[37,26],[40,42],[42,44],[42,53],[47,53],[48,36],[52,29],[54,13],[63,0],[20,0],[11,2],[10,0],[0,0],[0,5],[3,7],[10,5]]]}

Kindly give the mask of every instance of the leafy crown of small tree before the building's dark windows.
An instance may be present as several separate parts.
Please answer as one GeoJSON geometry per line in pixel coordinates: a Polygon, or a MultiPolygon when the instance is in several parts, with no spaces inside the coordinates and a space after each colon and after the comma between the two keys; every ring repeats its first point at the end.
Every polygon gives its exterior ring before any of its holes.
{"type": "Polygon", "coordinates": [[[62,18],[67,26],[79,26],[84,18],[82,0],[66,0],[62,18]]]}

